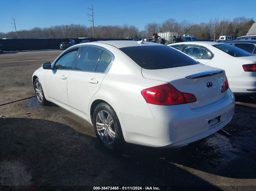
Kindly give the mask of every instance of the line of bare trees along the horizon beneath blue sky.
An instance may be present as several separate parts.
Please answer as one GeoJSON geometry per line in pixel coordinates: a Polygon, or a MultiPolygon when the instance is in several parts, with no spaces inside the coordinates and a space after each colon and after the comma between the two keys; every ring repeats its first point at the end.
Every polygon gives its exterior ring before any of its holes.
{"type": "MultiPolygon", "coordinates": [[[[148,23],[144,30],[134,25],[98,25],[94,27],[94,38],[148,38],[158,32],[178,32],[179,35],[189,34],[201,40],[218,39],[222,35],[231,35],[237,38],[246,35],[255,21],[253,18],[236,17],[232,21],[219,18],[210,19],[208,23],[194,24],[187,20],[181,22],[169,18],[162,23],[148,23]]],[[[15,32],[0,32],[0,38],[16,38],[15,32]]],[[[92,27],[82,24],[56,25],[54,27],[34,27],[30,30],[18,30],[17,38],[92,38],[92,27]]]]}

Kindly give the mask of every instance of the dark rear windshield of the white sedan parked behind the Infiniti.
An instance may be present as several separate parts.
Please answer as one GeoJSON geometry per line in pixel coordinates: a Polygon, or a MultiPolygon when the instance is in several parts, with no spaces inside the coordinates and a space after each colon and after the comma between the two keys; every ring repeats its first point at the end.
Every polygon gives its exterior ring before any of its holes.
{"type": "Polygon", "coordinates": [[[230,44],[216,44],[216,45],[212,45],[220,50],[222,50],[223,52],[229,54],[230,56],[234,56],[234,57],[242,57],[242,56],[253,56],[252,54],[246,52],[245,50],[242,50],[241,48],[232,46],[230,44]]]}

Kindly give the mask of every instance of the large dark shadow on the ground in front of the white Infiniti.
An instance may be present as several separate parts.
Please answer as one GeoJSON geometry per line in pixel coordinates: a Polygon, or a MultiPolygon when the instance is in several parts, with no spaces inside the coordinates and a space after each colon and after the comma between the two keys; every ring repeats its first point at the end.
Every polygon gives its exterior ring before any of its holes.
{"type": "Polygon", "coordinates": [[[207,138],[180,150],[128,144],[121,153],[114,153],[95,137],[45,119],[5,118],[0,127],[2,185],[6,181],[64,186],[211,185],[191,169],[229,178],[256,178],[255,167],[244,157],[221,161],[223,155],[216,143],[223,141],[218,140],[221,136],[213,138],[211,144],[207,138]],[[15,169],[20,177],[12,179],[15,169]]]}

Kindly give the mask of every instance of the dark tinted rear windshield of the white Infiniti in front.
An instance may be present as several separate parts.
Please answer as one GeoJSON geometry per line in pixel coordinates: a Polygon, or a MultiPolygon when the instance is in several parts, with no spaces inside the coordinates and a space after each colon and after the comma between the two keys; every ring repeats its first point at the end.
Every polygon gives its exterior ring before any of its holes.
{"type": "Polygon", "coordinates": [[[120,50],[141,68],[149,70],[198,64],[194,59],[169,46],[131,46],[120,50]]]}

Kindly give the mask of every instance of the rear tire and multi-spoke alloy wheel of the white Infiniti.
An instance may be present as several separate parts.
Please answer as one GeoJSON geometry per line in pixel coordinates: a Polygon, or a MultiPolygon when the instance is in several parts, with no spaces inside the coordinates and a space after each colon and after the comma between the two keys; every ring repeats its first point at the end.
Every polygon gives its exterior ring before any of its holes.
{"type": "Polygon", "coordinates": [[[103,102],[96,106],[93,114],[93,127],[96,137],[105,148],[120,151],[124,146],[125,141],[119,119],[115,110],[108,103],[103,102]],[[103,115],[105,119],[102,119],[103,115]]]}

